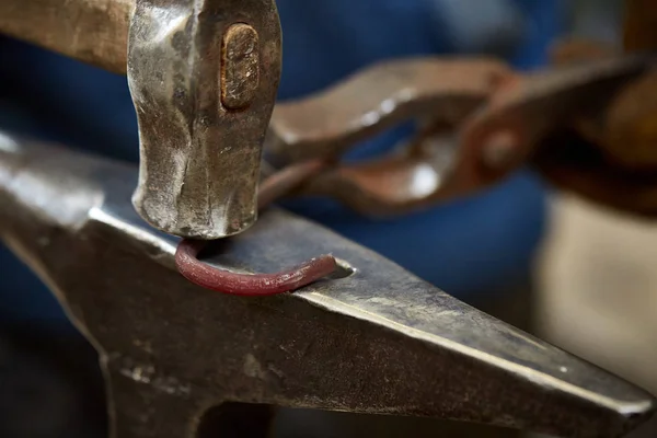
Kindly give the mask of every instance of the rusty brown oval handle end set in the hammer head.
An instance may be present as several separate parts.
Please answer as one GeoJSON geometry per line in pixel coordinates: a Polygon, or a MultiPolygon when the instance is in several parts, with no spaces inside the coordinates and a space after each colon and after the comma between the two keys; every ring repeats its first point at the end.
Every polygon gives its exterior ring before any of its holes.
{"type": "Polygon", "coordinates": [[[221,103],[228,110],[247,107],[260,83],[257,32],[238,23],[223,36],[221,59],[221,103]]]}

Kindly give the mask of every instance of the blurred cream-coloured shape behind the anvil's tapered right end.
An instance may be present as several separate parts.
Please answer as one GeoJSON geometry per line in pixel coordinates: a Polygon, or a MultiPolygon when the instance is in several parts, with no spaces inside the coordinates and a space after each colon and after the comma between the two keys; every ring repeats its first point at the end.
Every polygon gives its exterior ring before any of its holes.
{"type": "Polygon", "coordinates": [[[657,222],[555,197],[539,264],[549,341],[657,393],[657,222]]]}

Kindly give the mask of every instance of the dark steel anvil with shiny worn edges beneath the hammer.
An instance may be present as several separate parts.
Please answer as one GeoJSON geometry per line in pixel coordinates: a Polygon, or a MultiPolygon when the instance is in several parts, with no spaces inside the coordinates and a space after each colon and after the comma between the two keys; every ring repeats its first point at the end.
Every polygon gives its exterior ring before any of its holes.
{"type": "Polygon", "coordinates": [[[255,273],[332,253],[353,272],[269,298],[204,290],[176,273],[176,241],[132,210],[135,168],[0,145],[0,235],[99,349],[115,437],[191,437],[224,402],[565,437],[620,436],[655,410],[643,390],[281,210],[205,260],[255,273]]]}

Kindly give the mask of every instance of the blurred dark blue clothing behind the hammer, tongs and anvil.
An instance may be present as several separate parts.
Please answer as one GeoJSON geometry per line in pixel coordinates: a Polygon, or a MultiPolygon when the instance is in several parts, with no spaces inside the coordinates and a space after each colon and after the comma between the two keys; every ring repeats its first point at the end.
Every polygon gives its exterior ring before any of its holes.
{"type": "MultiPolygon", "coordinates": [[[[526,24],[511,60],[522,68],[541,65],[557,32],[558,0],[508,1],[526,24]]],[[[285,100],[325,88],[381,59],[457,51],[454,42],[469,35],[450,37],[459,23],[441,23],[446,3],[441,0],[277,3],[285,38],[279,95],[285,100]]],[[[0,126],[138,160],[137,125],[125,78],[12,41],[2,42],[0,56],[5,60],[0,61],[0,126]]],[[[356,154],[380,153],[403,132],[393,129],[356,154]]],[[[545,217],[544,189],[525,172],[475,198],[394,220],[368,220],[325,199],[289,207],[464,299],[527,276],[545,217]]],[[[26,269],[16,267],[7,250],[0,252],[0,320],[62,318],[49,293],[26,269]]]]}

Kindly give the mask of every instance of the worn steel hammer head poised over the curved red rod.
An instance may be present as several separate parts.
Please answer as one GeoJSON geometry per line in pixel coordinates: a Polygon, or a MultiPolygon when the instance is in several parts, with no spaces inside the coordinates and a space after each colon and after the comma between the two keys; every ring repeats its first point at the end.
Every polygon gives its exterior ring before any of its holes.
{"type": "Polygon", "coordinates": [[[132,204],[171,234],[218,239],[256,220],[280,79],[273,0],[138,0],[128,83],[141,164],[132,204]]]}

